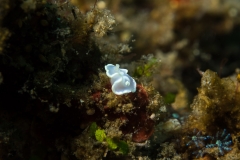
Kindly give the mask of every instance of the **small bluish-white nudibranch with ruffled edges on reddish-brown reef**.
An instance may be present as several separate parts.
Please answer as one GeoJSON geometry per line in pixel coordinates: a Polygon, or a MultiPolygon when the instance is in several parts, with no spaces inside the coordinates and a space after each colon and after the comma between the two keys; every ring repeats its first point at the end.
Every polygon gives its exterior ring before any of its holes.
{"type": "Polygon", "coordinates": [[[119,68],[119,64],[116,64],[116,66],[108,64],[105,66],[105,70],[107,76],[111,78],[113,93],[122,95],[136,91],[136,81],[127,74],[127,69],[119,68]]]}

